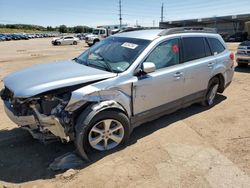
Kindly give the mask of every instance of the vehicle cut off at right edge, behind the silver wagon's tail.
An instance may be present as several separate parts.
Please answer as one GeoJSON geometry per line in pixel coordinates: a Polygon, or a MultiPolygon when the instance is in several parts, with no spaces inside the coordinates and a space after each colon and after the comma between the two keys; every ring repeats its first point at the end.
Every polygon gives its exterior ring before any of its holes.
{"type": "Polygon", "coordinates": [[[236,52],[236,62],[240,67],[246,67],[250,63],[250,40],[240,43],[236,52]]]}

